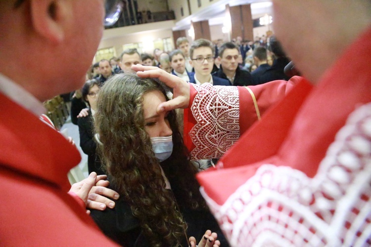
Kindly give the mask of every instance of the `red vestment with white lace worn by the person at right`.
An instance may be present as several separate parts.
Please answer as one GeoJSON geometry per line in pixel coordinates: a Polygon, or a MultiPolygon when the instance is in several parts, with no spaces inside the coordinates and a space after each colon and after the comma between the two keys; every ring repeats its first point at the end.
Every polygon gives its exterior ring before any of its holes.
{"type": "Polygon", "coordinates": [[[238,88],[238,110],[233,89],[194,86],[192,155],[225,153],[197,178],[232,246],[371,244],[370,64],[371,31],[267,111],[254,86],[238,88]]]}

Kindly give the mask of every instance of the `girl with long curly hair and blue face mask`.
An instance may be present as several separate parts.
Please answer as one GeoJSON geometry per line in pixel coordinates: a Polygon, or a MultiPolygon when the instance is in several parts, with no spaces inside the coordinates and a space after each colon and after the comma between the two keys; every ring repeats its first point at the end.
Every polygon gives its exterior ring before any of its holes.
{"type": "Polygon", "coordinates": [[[208,229],[228,246],[199,192],[175,111],[156,113],[165,100],[160,83],[135,74],[115,75],[100,89],[98,151],[121,197],[114,209],[91,215],[108,237],[127,247],[188,246],[187,235],[201,239],[208,229]]]}

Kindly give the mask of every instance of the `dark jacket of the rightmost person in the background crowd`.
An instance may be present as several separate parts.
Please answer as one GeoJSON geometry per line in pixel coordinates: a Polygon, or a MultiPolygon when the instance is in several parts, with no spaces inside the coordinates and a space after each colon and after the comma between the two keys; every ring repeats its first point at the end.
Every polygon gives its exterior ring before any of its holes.
{"type": "Polygon", "coordinates": [[[279,57],[274,62],[271,68],[266,70],[260,77],[260,84],[265,82],[272,82],[276,80],[288,81],[290,78],[285,75],[284,68],[290,62],[286,57],[279,57]]]}

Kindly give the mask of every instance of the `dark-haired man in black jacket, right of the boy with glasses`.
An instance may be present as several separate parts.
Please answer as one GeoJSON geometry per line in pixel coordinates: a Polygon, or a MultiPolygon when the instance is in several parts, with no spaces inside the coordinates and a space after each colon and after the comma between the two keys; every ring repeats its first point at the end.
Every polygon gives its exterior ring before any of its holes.
{"type": "Polygon", "coordinates": [[[239,47],[232,42],[222,44],[217,57],[221,65],[213,75],[228,80],[233,86],[253,85],[250,73],[238,67],[239,52],[239,47]]]}

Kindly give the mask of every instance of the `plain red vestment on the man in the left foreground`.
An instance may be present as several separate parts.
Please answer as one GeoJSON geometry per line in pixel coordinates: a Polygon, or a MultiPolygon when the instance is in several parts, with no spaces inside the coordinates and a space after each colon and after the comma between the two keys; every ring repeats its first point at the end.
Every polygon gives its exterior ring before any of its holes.
{"type": "Polygon", "coordinates": [[[0,246],[115,246],[67,194],[80,154],[0,93],[0,246]]]}

